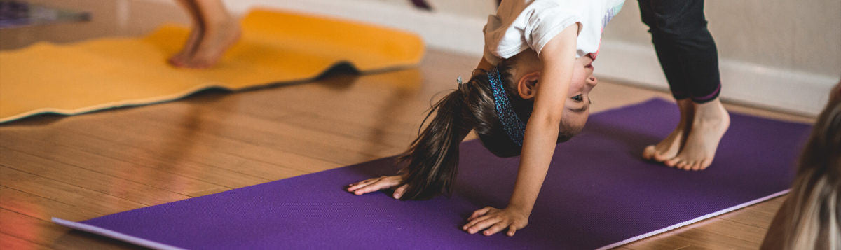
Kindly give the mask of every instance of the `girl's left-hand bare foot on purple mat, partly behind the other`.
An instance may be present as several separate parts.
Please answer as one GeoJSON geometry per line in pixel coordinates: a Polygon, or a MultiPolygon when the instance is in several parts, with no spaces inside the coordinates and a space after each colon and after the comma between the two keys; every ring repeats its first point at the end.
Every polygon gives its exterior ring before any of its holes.
{"type": "Polygon", "coordinates": [[[692,125],[692,118],[694,117],[694,107],[690,99],[678,100],[678,108],[680,109],[680,122],[674,131],[664,138],[663,141],[657,145],[648,145],[643,150],[643,159],[653,160],[657,162],[664,162],[672,159],[680,152],[680,146],[683,146],[687,134],[692,125]]]}

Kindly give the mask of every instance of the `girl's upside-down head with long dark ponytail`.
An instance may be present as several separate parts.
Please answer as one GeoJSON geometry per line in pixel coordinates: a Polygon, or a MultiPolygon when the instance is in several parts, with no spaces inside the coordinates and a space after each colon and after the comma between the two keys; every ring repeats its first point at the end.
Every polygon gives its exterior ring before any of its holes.
{"type": "MultiPolygon", "coordinates": [[[[579,133],[590,114],[590,90],[597,80],[592,76],[589,57],[575,60],[572,82],[569,85],[563,117],[558,124],[558,143],[579,133]]],[[[532,115],[534,96],[542,64],[529,49],[502,60],[497,69],[510,100],[511,108],[522,122],[532,115]]],[[[404,184],[408,184],[402,200],[428,199],[441,193],[451,193],[458,167],[458,145],[473,130],[485,148],[500,157],[521,154],[521,146],[509,138],[497,115],[494,91],[488,72],[474,72],[470,81],[458,86],[436,102],[424,119],[424,128],[400,157],[408,163],[403,169],[404,184]],[[431,117],[431,120],[429,118],[431,117]],[[429,120],[427,124],[427,120],[429,120]]],[[[422,126],[422,125],[421,125],[422,126]]]]}

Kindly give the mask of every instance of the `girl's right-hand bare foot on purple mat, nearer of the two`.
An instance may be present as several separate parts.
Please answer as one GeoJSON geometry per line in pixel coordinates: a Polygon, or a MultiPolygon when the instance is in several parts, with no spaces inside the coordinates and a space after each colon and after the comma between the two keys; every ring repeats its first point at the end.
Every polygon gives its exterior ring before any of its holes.
{"type": "Polygon", "coordinates": [[[680,153],[665,161],[669,167],[703,170],[712,164],[718,142],[730,127],[730,114],[719,99],[704,104],[693,103],[695,117],[680,153]]]}

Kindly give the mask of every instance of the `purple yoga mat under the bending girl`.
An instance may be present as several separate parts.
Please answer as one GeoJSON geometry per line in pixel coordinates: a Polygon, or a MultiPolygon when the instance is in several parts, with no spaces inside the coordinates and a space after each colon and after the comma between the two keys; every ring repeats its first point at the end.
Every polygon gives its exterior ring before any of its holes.
{"type": "Polygon", "coordinates": [[[462,144],[452,197],[396,201],[343,187],[394,174],[378,159],[262,185],[62,225],[147,247],[548,248],[616,247],[782,195],[809,125],[732,114],[716,161],[701,172],[643,162],[643,148],[677,124],[673,103],[654,99],[600,112],[558,144],[528,227],[484,237],[460,227],[476,209],[505,206],[517,158],[478,141],[462,144]]]}

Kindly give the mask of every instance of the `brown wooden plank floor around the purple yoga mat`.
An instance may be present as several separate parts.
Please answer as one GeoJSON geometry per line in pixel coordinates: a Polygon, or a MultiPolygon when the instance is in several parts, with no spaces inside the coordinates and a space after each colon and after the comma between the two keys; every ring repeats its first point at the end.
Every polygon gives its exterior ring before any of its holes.
{"type": "MultiPolygon", "coordinates": [[[[399,154],[431,99],[467,76],[473,56],[430,51],[406,70],[251,91],[204,91],[178,102],[0,125],[0,248],[127,248],[71,232],[82,221],[399,154]]],[[[652,91],[603,81],[595,112],[652,91]]],[[[811,117],[728,105],[733,112],[811,117]]],[[[759,247],[777,198],[621,248],[759,247]]]]}

